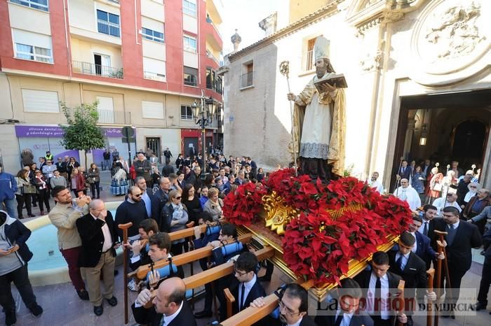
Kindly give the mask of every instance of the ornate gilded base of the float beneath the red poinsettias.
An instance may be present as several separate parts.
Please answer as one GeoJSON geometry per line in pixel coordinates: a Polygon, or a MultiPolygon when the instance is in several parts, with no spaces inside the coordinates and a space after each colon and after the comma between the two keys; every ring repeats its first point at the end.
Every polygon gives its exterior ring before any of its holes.
{"type": "MultiPolygon", "coordinates": [[[[311,295],[315,297],[318,302],[324,301],[328,292],[337,287],[336,283],[325,283],[321,287],[314,288],[313,280],[304,280],[302,276],[295,274],[288,264],[283,260],[283,248],[281,246],[281,235],[285,233],[285,227],[292,218],[298,218],[297,211],[285,205],[283,199],[279,197],[276,192],[272,192],[270,195],[266,195],[262,198],[264,202],[264,211],[260,213],[259,221],[252,225],[237,227],[238,235],[251,233],[253,234],[253,246],[255,248],[263,248],[265,246],[271,246],[274,248],[274,256],[269,260],[284,274],[288,275],[292,281],[302,283],[305,288],[308,288],[311,295]],[[264,220],[264,223],[262,222],[264,220]]],[[[361,209],[360,206],[348,206],[342,208],[339,211],[330,211],[332,218],[338,218],[344,213],[344,211],[357,211],[361,209]]],[[[398,236],[391,236],[387,238],[387,242],[377,246],[377,250],[389,251],[394,243],[398,240],[398,236]]],[[[347,274],[340,276],[339,278],[353,278],[358,273],[363,271],[368,265],[371,255],[363,260],[350,260],[349,270],[347,274]]]]}

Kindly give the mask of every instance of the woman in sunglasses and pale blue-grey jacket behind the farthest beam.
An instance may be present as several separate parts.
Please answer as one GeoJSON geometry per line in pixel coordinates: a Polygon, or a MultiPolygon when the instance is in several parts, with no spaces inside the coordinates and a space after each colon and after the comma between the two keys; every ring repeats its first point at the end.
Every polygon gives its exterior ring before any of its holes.
{"type": "MultiPolygon", "coordinates": [[[[166,232],[180,231],[186,228],[189,219],[187,208],[181,203],[181,192],[172,190],[169,192],[169,201],[162,208],[163,221],[166,225],[166,232]]],[[[172,241],[170,253],[180,255],[182,248],[187,245],[186,239],[172,241]]],[[[186,246],[187,247],[187,246],[186,246]]]]}

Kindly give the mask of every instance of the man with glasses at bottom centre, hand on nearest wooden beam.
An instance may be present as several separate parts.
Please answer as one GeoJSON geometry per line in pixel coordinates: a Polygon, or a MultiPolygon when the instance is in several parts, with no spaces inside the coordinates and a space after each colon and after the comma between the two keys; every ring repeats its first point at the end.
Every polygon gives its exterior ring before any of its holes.
{"type": "MultiPolygon", "coordinates": [[[[264,298],[258,297],[250,306],[256,308],[264,306],[264,298]]],[[[283,294],[278,299],[279,320],[268,316],[263,319],[264,324],[267,321],[267,324],[271,326],[316,326],[316,323],[307,316],[308,309],[309,294],[307,290],[297,283],[290,283],[286,285],[283,294]]]]}

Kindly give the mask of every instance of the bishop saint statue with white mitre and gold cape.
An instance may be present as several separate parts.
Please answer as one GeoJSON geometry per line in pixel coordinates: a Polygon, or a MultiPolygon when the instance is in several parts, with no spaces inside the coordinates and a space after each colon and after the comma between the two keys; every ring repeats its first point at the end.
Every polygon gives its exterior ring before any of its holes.
{"type": "Polygon", "coordinates": [[[329,41],[319,36],[314,44],[316,76],[298,94],[288,94],[294,101],[291,147],[300,156],[302,173],[316,180],[327,181],[344,172],[344,133],[346,113],[344,89],[325,83],[316,87],[316,80],[335,76],[328,57],[329,41]]]}

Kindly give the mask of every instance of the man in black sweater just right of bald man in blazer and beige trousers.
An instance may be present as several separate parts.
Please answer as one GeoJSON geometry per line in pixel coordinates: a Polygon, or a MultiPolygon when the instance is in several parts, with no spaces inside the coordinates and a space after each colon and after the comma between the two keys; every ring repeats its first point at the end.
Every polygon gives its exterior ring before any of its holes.
{"type": "MultiPolygon", "coordinates": [[[[138,225],[147,218],[147,209],[142,201],[142,190],[136,185],[132,185],[128,189],[128,198],[121,203],[116,209],[116,225],[132,222],[128,228],[128,239],[130,241],[137,240],[140,237],[138,234],[138,225]]],[[[123,230],[118,229],[118,236],[123,240],[123,230]]]]}

